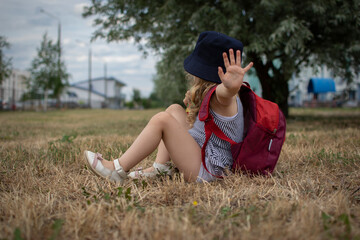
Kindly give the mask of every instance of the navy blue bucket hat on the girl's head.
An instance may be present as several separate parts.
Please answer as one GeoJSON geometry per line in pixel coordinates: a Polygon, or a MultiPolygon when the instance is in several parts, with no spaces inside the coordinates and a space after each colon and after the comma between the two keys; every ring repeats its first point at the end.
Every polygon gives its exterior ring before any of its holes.
{"type": "Polygon", "coordinates": [[[218,32],[202,32],[194,51],[185,59],[184,68],[203,80],[221,83],[218,67],[226,72],[222,53],[229,53],[230,48],[234,53],[240,50],[242,55],[243,44],[239,40],[218,32]]]}

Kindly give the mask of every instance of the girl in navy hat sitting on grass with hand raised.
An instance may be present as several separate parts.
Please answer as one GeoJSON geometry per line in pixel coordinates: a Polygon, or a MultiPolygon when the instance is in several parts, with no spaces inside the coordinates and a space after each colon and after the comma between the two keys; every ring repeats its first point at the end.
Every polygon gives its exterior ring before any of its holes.
{"type": "Polygon", "coordinates": [[[184,175],[186,181],[212,181],[213,175],[225,175],[232,166],[230,143],[212,135],[206,146],[205,161],[201,162],[201,147],[205,141],[204,123],[198,111],[206,93],[217,85],[210,100],[210,112],[220,129],[235,142],[242,141],[243,110],[239,89],[250,63],[241,67],[240,41],[217,32],[200,34],[192,54],[184,61],[184,68],[192,78],[192,88],[184,103],[188,114],[177,104],[153,116],[131,147],[118,159],[107,161],[99,153],[85,151],[90,169],[98,176],[123,182],[127,177],[153,177],[159,173],[171,174],[170,159],[184,175]],[[227,54],[229,53],[229,56],[227,54]],[[128,171],[156,148],[158,153],[153,167],[144,171],[128,171]],[[212,175],[213,174],[213,175],[212,175]]]}

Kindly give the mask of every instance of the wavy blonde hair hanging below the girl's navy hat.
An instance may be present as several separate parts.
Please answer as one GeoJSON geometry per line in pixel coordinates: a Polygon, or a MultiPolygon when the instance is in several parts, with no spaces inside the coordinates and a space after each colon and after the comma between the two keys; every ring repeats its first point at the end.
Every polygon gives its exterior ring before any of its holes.
{"type": "Polygon", "coordinates": [[[209,92],[209,90],[213,86],[217,85],[217,83],[205,81],[191,74],[188,74],[187,78],[188,80],[190,80],[191,85],[191,88],[189,90],[191,102],[187,106],[188,115],[186,118],[186,122],[192,127],[199,113],[202,100],[209,92]]]}

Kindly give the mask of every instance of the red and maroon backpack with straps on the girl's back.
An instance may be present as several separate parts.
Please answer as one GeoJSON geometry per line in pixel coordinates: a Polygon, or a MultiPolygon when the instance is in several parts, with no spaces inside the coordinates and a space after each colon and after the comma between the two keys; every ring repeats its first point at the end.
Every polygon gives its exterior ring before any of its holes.
{"type": "MultiPolygon", "coordinates": [[[[244,137],[242,142],[236,143],[220,130],[215,124],[213,116],[209,114],[210,99],[215,90],[216,86],[210,89],[199,110],[199,120],[205,122],[206,139],[201,149],[204,168],[209,172],[205,164],[205,148],[211,134],[215,134],[231,144],[231,153],[234,159],[232,171],[271,174],[285,141],[286,120],[284,114],[276,103],[257,96],[251,90],[250,85],[244,83],[239,91],[244,109],[244,137]]],[[[216,177],[221,178],[220,176],[216,177]]]]}

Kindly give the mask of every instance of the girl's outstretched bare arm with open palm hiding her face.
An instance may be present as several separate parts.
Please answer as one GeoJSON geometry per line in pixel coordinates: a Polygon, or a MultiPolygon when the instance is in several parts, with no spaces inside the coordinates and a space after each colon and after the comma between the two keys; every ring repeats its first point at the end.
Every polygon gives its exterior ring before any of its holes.
{"type": "Polygon", "coordinates": [[[233,116],[237,113],[236,94],[240,90],[245,73],[253,65],[251,62],[245,68],[241,67],[239,50],[236,51],[236,59],[232,49],[229,50],[229,55],[230,61],[227,54],[223,53],[226,73],[219,67],[218,74],[222,83],[216,88],[210,102],[211,108],[222,116],[233,116]]]}

